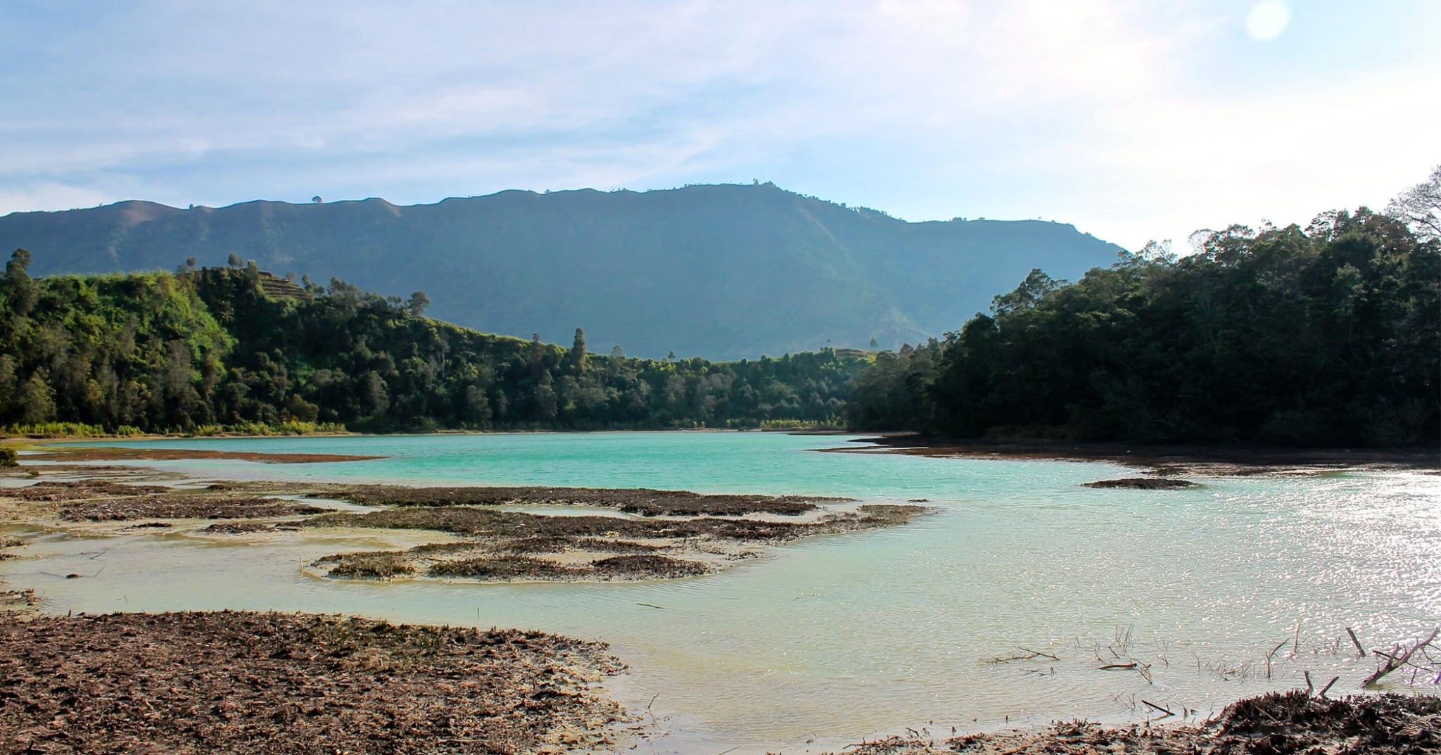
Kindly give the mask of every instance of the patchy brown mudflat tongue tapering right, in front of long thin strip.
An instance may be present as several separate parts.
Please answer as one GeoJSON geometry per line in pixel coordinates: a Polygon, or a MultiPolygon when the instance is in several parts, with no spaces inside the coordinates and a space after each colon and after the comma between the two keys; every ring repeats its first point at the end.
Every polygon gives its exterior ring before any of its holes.
{"type": "Polygon", "coordinates": [[[810,522],[732,517],[545,516],[477,506],[331,513],[307,526],[435,530],[463,540],[326,556],[326,576],[431,576],[481,582],[641,581],[696,576],[755,558],[751,548],[904,524],[919,506],[860,506],[810,522]]]}

